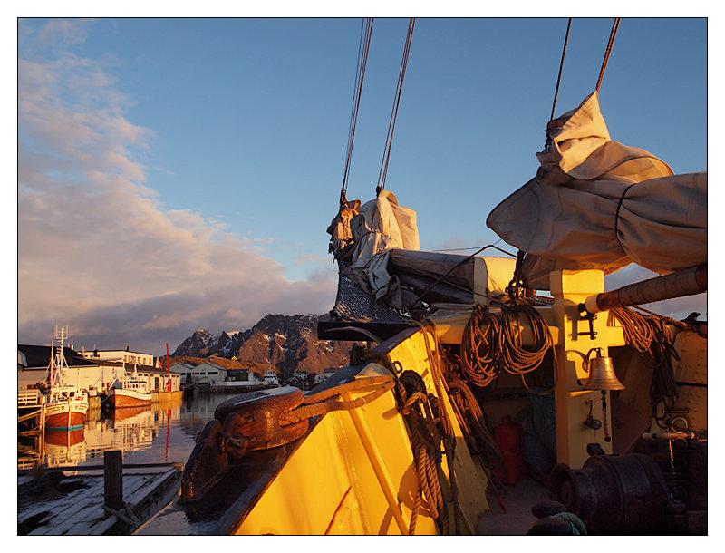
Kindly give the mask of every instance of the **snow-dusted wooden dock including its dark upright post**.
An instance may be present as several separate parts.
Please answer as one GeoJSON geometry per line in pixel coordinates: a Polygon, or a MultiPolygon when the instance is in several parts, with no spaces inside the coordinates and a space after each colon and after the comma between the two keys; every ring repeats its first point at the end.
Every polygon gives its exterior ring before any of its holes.
{"type": "Polygon", "coordinates": [[[127,535],[179,492],[181,463],[122,464],[18,471],[19,535],[127,535]],[[42,473],[41,473],[42,472],[42,473]]]}

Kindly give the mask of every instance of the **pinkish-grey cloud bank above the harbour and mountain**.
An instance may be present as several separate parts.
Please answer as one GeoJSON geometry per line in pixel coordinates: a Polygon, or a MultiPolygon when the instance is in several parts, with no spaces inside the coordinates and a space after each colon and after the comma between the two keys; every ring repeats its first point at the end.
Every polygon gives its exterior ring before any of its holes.
{"type": "Polygon", "coordinates": [[[327,311],[330,272],[288,280],[258,242],[190,209],[163,209],[139,161],[152,132],[126,118],[129,99],[101,62],[65,50],[86,34],[85,23],[63,20],[23,32],[19,341],[47,344],[67,323],[76,347],[160,353],[198,326],[327,311]]]}

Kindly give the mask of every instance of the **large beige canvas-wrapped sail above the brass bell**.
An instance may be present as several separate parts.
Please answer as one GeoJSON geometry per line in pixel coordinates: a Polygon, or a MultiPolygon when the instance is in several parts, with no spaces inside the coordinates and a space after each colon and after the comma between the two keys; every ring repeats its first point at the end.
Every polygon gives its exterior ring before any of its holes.
{"type": "Polygon", "coordinates": [[[612,141],[597,93],[549,121],[541,167],[491,211],[489,228],[527,252],[528,286],[556,269],[637,263],[660,274],[707,262],[707,173],[674,175],[652,153],[612,141]]]}

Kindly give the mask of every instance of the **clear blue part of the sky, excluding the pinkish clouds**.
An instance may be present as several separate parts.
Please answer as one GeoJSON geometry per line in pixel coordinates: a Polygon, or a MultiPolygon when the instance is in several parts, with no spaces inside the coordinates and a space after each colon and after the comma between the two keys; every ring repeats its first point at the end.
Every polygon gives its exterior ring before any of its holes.
{"type": "MultiPolygon", "coordinates": [[[[594,89],[611,23],[575,19],[557,113],[594,89]]],[[[106,79],[98,90],[121,100],[63,100],[75,112],[112,104],[143,130],[122,151],[156,208],[221,223],[301,282],[333,270],[324,229],[337,208],[360,25],[24,20],[20,57],[83,60],[73,71],[92,65],[106,79]]],[[[406,26],[374,23],[349,198],[374,192],[406,26]]],[[[387,188],[418,210],[424,249],[498,239],[484,220],[536,172],[565,26],[564,18],[418,20],[387,188]]],[[[623,19],[600,92],[613,139],[675,172],[706,170],[706,62],[706,20],[623,19]]],[[[38,140],[21,121],[21,150],[38,140]]]]}

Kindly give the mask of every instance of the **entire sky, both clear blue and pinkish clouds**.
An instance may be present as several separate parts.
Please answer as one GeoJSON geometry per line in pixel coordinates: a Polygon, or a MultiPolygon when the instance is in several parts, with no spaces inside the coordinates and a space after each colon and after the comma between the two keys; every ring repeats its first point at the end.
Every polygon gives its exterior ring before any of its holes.
{"type": "MultiPolygon", "coordinates": [[[[558,114],[611,19],[572,25],[558,114]]],[[[372,199],[407,20],[376,19],[348,198],[372,199]]],[[[419,19],[387,188],[423,249],[498,240],[536,174],[566,20],[419,19]]],[[[158,354],[199,326],[324,313],[360,19],[20,21],[19,341],[158,354]]],[[[707,23],[622,20],[600,91],[614,140],[707,170],[707,23]]],[[[501,246],[502,244],[499,244],[501,246]]],[[[628,267],[614,287],[650,274],[628,267]]],[[[706,311],[704,296],[662,306],[706,311]]]]}

